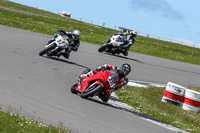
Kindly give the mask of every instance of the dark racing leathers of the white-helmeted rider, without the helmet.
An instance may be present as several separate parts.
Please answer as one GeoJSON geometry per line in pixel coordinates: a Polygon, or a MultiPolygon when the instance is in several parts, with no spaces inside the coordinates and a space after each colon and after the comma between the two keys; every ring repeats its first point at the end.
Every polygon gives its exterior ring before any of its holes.
{"type": "MultiPolygon", "coordinates": [[[[58,30],[58,32],[60,34],[64,34],[64,35],[68,36],[69,47],[65,48],[65,52],[58,53],[57,57],[60,57],[62,55],[65,58],[68,59],[71,51],[74,51],[74,52],[78,51],[78,48],[80,46],[80,40],[79,39],[76,39],[76,40],[73,39],[72,32],[66,32],[64,30],[58,30]]],[[[54,41],[54,39],[52,39],[50,41],[54,41]]]]}

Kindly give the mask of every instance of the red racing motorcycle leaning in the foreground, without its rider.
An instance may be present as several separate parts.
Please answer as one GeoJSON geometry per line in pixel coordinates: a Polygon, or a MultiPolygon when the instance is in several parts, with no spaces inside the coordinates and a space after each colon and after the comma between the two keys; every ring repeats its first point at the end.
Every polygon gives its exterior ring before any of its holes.
{"type": "Polygon", "coordinates": [[[74,84],[71,87],[71,92],[80,95],[82,98],[98,96],[102,99],[102,96],[106,92],[115,89],[115,83],[118,80],[119,76],[116,71],[100,70],[95,74],[83,78],[80,83],[74,84]]]}

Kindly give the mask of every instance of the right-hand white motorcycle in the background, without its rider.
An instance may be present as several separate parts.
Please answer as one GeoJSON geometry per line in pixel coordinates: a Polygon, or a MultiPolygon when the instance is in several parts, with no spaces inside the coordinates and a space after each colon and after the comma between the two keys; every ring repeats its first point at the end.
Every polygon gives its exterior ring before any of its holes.
{"type": "Polygon", "coordinates": [[[113,35],[110,37],[109,43],[104,44],[101,46],[98,51],[99,52],[108,52],[112,53],[113,55],[115,54],[120,54],[125,52],[125,48],[122,47],[124,44],[125,38],[121,37],[120,35],[113,35]]]}

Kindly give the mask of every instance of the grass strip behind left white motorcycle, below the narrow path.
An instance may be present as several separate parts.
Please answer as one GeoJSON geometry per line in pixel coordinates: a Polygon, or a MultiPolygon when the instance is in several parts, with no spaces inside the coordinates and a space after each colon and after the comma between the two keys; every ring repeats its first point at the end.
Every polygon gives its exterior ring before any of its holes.
{"type": "Polygon", "coordinates": [[[94,44],[102,44],[107,39],[107,36],[114,33],[114,30],[103,27],[96,28],[93,25],[73,19],[63,17],[60,17],[60,19],[47,19],[42,16],[31,16],[4,9],[0,9],[0,20],[0,24],[2,25],[8,25],[11,27],[22,28],[49,35],[54,35],[58,29],[65,29],[67,31],[79,29],[81,31],[81,41],[94,44]]]}

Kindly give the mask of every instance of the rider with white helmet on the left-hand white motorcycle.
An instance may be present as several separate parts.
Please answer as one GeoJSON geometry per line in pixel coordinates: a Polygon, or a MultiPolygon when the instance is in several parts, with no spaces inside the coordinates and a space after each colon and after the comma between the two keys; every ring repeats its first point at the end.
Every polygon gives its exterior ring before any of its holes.
{"type": "MultiPolygon", "coordinates": [[[[62,29],[58,30],[58,32],[60,34],[68,36],[70,47],[65,48],[65,52],[58,53],[57,57],[60,57],[62,55],[68,59],[71,51],[76,52],[78,50],[80,46],[79,37],[81,33],[79,30],[74,30],[73,32],[66,32],[65,30],[62,30],[62,29]]],[[[52,41],[54,41],[54,38],[50,40],[49,43],[51,43],[52,41]]]]}

